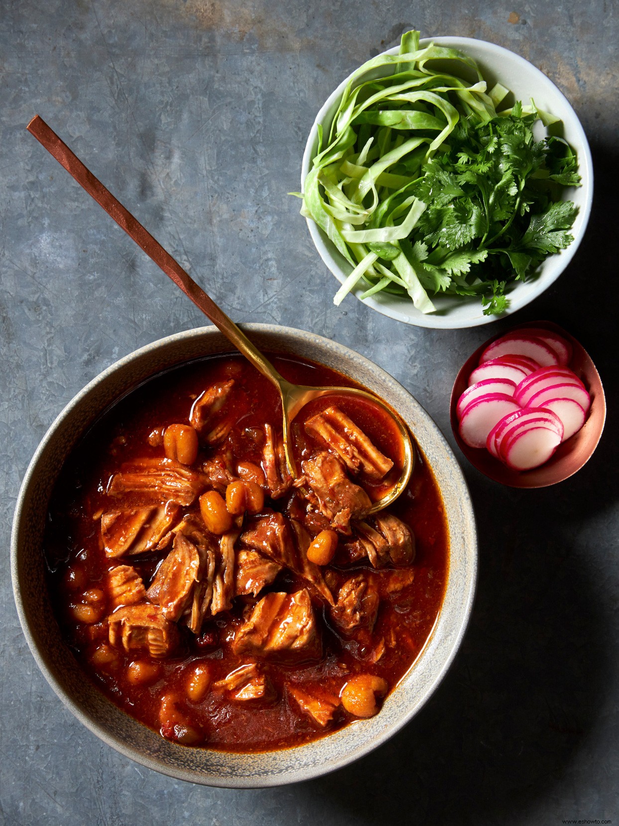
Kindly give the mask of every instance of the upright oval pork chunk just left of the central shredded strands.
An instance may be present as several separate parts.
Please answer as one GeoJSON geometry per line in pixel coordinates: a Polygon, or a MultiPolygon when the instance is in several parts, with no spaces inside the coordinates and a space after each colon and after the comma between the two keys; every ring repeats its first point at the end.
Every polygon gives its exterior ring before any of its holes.
{"type": "Polygon", "coordinates": [[[156,602],[166,619],[182,617],[191,602],[193,586],[201,573],[201,559],[196,545],[185,534],[177,533],[172,550],[159,565],[154,580],[146,591],[151,602],[156,602]]]}

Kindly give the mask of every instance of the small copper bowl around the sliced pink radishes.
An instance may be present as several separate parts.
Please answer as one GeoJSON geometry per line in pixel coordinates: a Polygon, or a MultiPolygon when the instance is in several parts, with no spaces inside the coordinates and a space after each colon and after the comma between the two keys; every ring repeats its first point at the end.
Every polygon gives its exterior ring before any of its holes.
{"type": "Polygon", "coordinates": [[[481,347],[476,349],[475,353],[472,354],[470,358],[467,358],[460,373],[456,376],[456,381],[451,391],[451,430],[453,430],[459,448],[469,462],[487,477],[494,479],[494,482],[501,482],[502,485],[509,485],[510,487],[548,487],[549,485],[556,485],[557,482],[563,482],[564,479],[573,476],[593,455],[593,451],[597,448],[602,430],[604,429],[606,399],[604,398],[604,389],[599,373],[582,344],[579,344],[573,336],[569,335],[569,333],[551,321],[530,321],[527,324],[519,324],[511,327],[509,332],[513,330],[525,330],[528,327],[541,327],[545,330],[552,330],[552,332],[562,335],[572,345],[574,354],[572,355],[569,368],[576,373],[591,395],[591,408],[589,409],[584,426],[578,433],[575,433],[566,442],[560,444],[555,454],[545,464],[539,468],[533,468],[527,471],[511,470],[507,465],[504,465],[503,462],[500,462],[499,459],[494,458],[485,448],[470,448],[468,444],[462,441],[458,429],[458,417],[456,415],[458,399],[461,393],[468,387],[470,373],[477,367],[480,361],[480,355],[491,342],[505,335],[506,331],[503,330],[502,333],[494,335],[491,339],[488,339],[485,344],[482,344],[481,347]]]}

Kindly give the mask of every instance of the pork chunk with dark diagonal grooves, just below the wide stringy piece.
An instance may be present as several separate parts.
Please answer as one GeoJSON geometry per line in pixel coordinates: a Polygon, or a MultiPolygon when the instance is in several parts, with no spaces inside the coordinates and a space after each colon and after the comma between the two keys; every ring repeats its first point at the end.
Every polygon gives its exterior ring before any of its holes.
{"type": "Polygon", "coordinates": [[[174,502],[158,507],[109,510],[101,517],[101,535],[106,557],[147,553],[162,539],[178,517],[174,502]]]}

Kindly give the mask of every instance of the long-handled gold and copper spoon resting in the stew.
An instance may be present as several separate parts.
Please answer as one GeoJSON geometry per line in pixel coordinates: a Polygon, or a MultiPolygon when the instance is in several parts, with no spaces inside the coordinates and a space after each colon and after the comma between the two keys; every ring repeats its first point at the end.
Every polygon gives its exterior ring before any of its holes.
{"type": "Polygon", "coordinates": [[[158,264],[169,278],[172,278],[172,281],[182,289],[182,292],[190,297],[191,301],[210,318],[213,324],[229,339],[231,344],[234,344],[234,347],[236,347],[245,358],[248,358],[253,366],[277,387],[281,396],[286,464],[293,478],[298,477],[292,449],[290,427],[295,415],[297,415],[301,408],[309,401],[313,401],[320,396],[357,396],[366,399],[366,401],[370,401],[390,415],[399,432],[403,448],[403,466],[399,479],[385,496],[382,496],[374,503],[371,508],[371,513],[375,513],[376,510],[382,510],[390,505],[390,503],[404,491],[413,470],[414,451],[404,421],[391,407],[387,406],[385,402],[377,396],[373,396],[364,390],[357,390],[355,387],[304,387],[303,385],[288,382],[276,371],[272,363],[270,363],[267,358],[264,358],[262,353],[253,346],[248,337],[234,324],[234,321],[230,320],[224,311],[215,304],[215,301],[207,296],[206,292],[204,292],[201,287],[198,287],[196,282],[187,275],[180,264],[172,258],[172,255],[163,249],[162,245],[123,207],[120,201],[103,186],[101,181],[95,178],[92,172],[84,166],[82,161],[73,154],[64,141],[60,140],[59,136],[50,129],[50,126],[48,126],[42,118],[38,115],[33,117],[27,129],[35,136],[36,140],[40,141],[40,144],[42,144],[50,154],[54,155],[54,158],[59,164],[64,166],[64,169],[73,175],[73,178],[75,178],[80,186],[82,186],[89,195],[92,195],[107,214],[125,230],[127,235],[130,235],[130,237],[135,240],[135,243],[144,249],[144,252],[154,260],[154,263],[158,264]]]}

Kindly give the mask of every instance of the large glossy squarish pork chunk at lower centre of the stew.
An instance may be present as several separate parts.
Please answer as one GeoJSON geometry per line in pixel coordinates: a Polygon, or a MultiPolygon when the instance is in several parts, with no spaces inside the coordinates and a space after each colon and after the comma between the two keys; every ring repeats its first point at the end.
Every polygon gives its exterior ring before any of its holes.
{"type": "Polygon", "coordinates": [[[263,596],[236,632],[232,648],[236,654],[283,661],[319,659],[322,642],[308,591],[263,596]]]}

